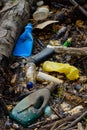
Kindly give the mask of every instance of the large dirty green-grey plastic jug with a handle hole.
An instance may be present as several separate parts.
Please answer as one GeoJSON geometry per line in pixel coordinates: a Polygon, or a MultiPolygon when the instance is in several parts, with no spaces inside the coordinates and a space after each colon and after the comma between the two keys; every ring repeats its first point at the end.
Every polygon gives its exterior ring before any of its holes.
{"type": "Polygon", "coordinates": [[[39,89],[25,97],[10,112],[10,118],[24,127],[32,124],[44,113],[54,86],[55,83],[51,82],[46,88],[39,89]]]}

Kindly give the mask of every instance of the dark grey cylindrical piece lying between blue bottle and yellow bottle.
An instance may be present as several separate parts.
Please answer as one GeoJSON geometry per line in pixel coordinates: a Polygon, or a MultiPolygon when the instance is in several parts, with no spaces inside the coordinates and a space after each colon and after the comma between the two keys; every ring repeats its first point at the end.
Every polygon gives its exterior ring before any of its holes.
{"type": "Polygon", "coordinates": [[[39,52],[38,54],[32,56],[30,58],[30,61],[34,62],[36,65],[40,64],[41,62],[47,60],[49,57],[52,56],[52,54],[54,53],[54,48],[45,48],[43,49],[41,52],[39,52]]]}

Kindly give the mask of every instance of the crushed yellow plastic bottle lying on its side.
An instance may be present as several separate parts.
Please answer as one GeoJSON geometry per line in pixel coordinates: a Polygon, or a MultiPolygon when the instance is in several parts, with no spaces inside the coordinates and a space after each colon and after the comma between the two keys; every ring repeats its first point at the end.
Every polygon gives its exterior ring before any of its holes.
{"type": "Polygon", "coordinates": [[[52,61],[45,61],[43,63],[43,70],[46,72],[59,72],[64,73],[69,80],[79,78],[79,70],[69,64],[57,63],[52,61]]]}

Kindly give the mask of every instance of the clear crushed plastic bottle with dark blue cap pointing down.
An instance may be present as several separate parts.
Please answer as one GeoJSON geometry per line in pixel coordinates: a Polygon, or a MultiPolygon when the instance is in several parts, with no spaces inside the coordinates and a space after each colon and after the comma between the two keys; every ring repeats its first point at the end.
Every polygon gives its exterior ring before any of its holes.
{"type": "Polygon", "coordinates": [[[36,65],[33,62],[26,65],[26,83],[28,89],[32,88],[36,83],[36,65]]]}

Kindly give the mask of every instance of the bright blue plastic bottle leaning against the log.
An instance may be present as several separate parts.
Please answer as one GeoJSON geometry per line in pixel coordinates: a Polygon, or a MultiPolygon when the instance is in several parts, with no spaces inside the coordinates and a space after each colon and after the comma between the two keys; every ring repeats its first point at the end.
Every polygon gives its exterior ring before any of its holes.
{"type": "Polygon", "coordinates": [[[28,23],[25,31],[19,36],[15,48],[14,56],[29,57],[33,48],[32,24],[28,23]]]}

